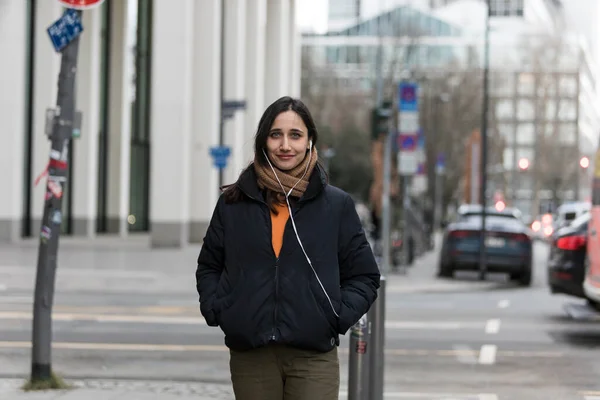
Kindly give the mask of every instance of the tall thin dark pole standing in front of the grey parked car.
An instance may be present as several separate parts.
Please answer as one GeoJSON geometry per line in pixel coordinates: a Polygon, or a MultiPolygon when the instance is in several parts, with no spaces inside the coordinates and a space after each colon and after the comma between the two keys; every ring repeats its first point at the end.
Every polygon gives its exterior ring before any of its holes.
{"type": "Polygon", "coordinates": [[[483,59],[483,110],[481,113],[481,163],[480,163],[480,192],[479,201],[481,202],[481,230],[479,235],[479,279],[484,280],[487,270],[486,265],[486,192],[487,192],[487,125],[488,125],[488,103],[489,103],[489,69],[490,69],[490,0],[487,3],[487,14],[485,19],[485,38],[484,38],[484,59],[483,59]]]}

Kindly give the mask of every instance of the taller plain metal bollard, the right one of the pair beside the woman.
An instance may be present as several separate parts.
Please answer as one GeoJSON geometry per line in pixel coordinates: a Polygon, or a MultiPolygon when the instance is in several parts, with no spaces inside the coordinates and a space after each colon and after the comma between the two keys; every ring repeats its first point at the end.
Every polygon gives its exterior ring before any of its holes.
{"type": "Polygon", "coordinates": [[[384,393],[384,364],[385,364],[385,288],[386,278],[381,276],[381,286],[377,300],[367,313],[371,323],[369,344],[369,400],[383,400],[384,393]]]}

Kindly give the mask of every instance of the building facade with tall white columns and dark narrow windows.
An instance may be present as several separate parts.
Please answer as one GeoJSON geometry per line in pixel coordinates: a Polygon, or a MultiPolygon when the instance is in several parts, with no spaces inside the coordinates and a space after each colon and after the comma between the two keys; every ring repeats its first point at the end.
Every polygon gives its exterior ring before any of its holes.
{"type": "MultiPolygon", "coordinates": [[[[69,149],[63,234],[148,231],[154,246],[200,242],[219,193],[252,160],[264,108],[299,96],[298,0],[106,0],[83,12],[76,81],[81,137],[69,149]],[[223,24],[221,24],[223,21],[223,24]],[[223,46],[222,46],[223,44],[223,46]],[[245,101],[224,122],[225,101],[245,101]],[[221,137],[222,136],[222,137],[221,137]],[[219,182],[210,149],[231,148],[219,182]]],[[[40,231],[46,109],[60,55],[47,27],[57,1],[0,2],[0,241],[40,231]]]]}

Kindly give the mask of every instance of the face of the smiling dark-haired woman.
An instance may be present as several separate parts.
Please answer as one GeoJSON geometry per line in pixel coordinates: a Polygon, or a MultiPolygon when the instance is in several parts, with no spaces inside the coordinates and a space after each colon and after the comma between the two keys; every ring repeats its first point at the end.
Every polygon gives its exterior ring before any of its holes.
{"type": "Polygon", "coordinates": [[[280,170],[288,171],[304,160],[308,149],[308,129],[294,111],[275,118],[267,138],[267,156],[280,170]]]}

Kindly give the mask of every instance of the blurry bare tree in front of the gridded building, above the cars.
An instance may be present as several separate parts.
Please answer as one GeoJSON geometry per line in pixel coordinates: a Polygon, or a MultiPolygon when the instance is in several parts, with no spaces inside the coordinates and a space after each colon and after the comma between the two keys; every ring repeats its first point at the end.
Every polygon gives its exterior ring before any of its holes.
{"type": "Polygon", "coordinates": [[[577,190],[580,54],[557,35],[529,41],[525,49],[526,65],[535,81],[535,161],[530,178],[532,212],[537,213],[542,191],[550,191],[553,203],[559,204],[566,191],[577,190]]]}

